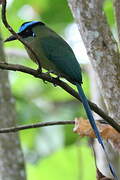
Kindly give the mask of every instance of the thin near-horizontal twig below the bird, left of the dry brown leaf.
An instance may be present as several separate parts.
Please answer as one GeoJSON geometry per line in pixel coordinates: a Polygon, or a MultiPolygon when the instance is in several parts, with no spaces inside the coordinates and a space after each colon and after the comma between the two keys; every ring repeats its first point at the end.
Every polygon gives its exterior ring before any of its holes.
{"type": "Polygon", "coordinates": [[[45,126],[53,126],[53,125],[68,125],[68,124],[75,124],[75,121],[40,122],[40,123],[36,123],[36,124],[3,128],[3,129],[0,129],[0,133],[10,133],[10,132],[22,131],[25,129],[33,129],[33,128],[39,128],[39,127],[45,127],[45,126]]]}

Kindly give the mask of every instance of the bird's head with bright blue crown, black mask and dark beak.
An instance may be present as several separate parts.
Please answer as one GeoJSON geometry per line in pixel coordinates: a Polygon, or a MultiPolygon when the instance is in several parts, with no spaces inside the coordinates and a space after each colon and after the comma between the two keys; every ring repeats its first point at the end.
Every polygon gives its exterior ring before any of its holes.
{"type": "MultiPolygon", "coordinates": [[[[41,21],[30,21],[30,22],[25,22],[23,23],[20,28],[19,28],[19,31],[18,31],[18,35],[20,37],[22,37],[23,39],[25,38],[28,38],[28,37],[35,37],[36,34],[35,34],[35,27],[37,26],[44,26],[45,24],[41,21]]],[[[10,36],[9,38],[7,38],[4,42],[9,42],[9,41],[13,41],[13,40],[16,40],[17,38],[12,35],[10,36]]]]}

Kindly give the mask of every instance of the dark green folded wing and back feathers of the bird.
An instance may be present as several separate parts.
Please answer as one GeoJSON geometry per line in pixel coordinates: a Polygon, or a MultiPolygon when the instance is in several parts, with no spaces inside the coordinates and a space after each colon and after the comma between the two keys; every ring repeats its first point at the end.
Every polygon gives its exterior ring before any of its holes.
{"type": "Polygon", "coordinates": [[[81,69],[71,47],[59,36],[41,38],[46,57],[72,82],[82,83],[81,69]]]}

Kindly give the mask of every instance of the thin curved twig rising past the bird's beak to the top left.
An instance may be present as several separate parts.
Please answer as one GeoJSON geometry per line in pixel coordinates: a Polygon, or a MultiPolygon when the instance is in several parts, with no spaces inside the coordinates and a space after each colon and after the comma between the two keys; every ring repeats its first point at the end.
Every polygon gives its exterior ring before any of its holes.
{"type": "Polygon", "coordinates": [[[14,30],[13,28],[9,25],[8,21],[7,21],[7,18],[6,18],[6,4],[7,4],[7,1],[4,0],[2,2],[2,22],[3,24],[5,25],[5,27],[8,29],[9,32],[11,32],[25,47],[27,47],[27,49],[29,51],[31,51],[32,55],[35,57],[38,65],[39,65],[39,73],[42,71],[42,68],[41,68],[41,63],[40,63],[40,59],[39,57],[36,55],[36,53],[33,51],[32,47],[30,47],[28,45],[28,43],[26,43],[14,30]]]}

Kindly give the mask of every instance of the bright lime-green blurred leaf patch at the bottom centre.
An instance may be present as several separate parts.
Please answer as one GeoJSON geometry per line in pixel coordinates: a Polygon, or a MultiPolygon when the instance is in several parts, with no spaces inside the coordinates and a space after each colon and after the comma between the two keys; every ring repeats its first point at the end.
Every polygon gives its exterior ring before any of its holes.
{"type": "Polygon", "coordinates": [[[95,180],[95,165],[91,151],[86,145],[78,147],[72,145],[61,149],[38,162],[39,172],[34,165],[27,165],[29,180],[57,179],[74,180],[89,179],[95,180]],[[87,162],[87,163],[86,163],[87,162]],[[53,173],[51,173],[53,172],[53,173]]]}

